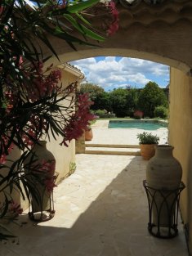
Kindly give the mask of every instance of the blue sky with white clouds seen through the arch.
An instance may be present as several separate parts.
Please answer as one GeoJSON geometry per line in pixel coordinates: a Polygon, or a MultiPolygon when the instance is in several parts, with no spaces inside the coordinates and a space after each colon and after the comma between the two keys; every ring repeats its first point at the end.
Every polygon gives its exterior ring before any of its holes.
{"type": "Polygon", "coordinates": [[[85,74],[88,83],[94,83],[112,91],[114,88],[131,86],[143,88],[149,81],[165,88],[169,83],[169,67],[152,61],[120,56],[98,56],[71,61],[85,74]]]}

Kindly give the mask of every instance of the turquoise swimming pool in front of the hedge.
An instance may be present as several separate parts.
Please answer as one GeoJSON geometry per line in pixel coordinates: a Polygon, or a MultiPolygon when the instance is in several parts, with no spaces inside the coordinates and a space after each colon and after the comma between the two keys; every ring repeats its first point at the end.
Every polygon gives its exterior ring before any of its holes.
{"type": "Polygon", "coordinates": [[[154,131],[167,128],[167,123],[159,120],[109,120],[108,128],[136,128],[154,131]]]}

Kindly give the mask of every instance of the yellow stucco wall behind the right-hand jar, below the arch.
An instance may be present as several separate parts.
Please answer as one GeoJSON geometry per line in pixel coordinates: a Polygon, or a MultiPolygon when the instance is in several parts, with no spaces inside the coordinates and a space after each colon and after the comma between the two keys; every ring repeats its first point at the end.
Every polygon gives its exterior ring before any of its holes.
{"type": "Polygon", "coordinates": [[[181,193],[181,214],[189,231],[192,253],[192,78],[171,68],[169,144],[183,169],[185,190],[181,193]]]}

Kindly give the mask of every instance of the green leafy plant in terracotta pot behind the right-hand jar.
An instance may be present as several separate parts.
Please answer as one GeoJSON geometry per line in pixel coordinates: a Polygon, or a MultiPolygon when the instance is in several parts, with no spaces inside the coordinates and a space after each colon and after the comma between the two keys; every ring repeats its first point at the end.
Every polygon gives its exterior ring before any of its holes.
{"type": "Polygon", "coordinates": [[[149,160],[154,156],[154,146],[158,145],[159,137],[157,135],[153,135],[151,132],[142,132],[137,134],[137,138],[140,143],[141,156],[143,159],[149,160]]]}

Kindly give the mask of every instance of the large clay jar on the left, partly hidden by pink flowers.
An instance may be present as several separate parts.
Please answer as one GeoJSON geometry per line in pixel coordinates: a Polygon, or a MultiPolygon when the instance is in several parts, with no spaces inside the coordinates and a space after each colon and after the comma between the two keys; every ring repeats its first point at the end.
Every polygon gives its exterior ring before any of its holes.
{"type": "MultiPolygon", "coordinates": [[[[32,186],[35,186],[38,192],[38,201],[35,199],[35,196],[32,195],[31,204],[33,213],[50,209],[51,191],[47,189],[47,186],[53,182],[56,159],[54,155],[47,150],[46,144],[47,141],[38,141],[38,144],[33,146],[29,157],[25,160],[25,165],[29,164],[29,169],[31,169],[37,177],[37,180],[35,180],[35,177],[32,177],[32,186]],[[42,172],[46,172],[46,178],[44,176],[45,173],[42,172]],[[39,182],[41,180],[42,182],[39,182]]],[[[26,169],[25,172],[29,173],[29,170],[26,169]]]]}

